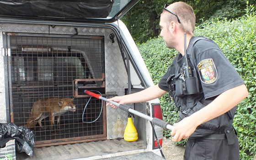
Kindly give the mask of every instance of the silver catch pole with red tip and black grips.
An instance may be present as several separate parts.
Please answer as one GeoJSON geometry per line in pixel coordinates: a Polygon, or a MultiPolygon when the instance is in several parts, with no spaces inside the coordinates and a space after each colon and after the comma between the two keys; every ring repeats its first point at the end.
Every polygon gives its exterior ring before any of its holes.
{"type": "Polygon", "coordinates": [[[145,114],[143,114],[141,112],[135,111],[135,110],[132,109],[132,107],[129,107],[129,106],[124,105],[124,104],[119,104],[119,103],[117,103],[115,101],[108,101],[107,98],[102,97],[102,96],[100,96],[100,95],[98,95],[96,93],[93,93],[91,91],[88,91],[88,90],[85,90],[84,93],[87,94],[87,95],[93,96],[93,97],[95,97],[97,99],[101,99],[103,101],[107,101],[107,102],[109,102],[109,103],[119,107],[123,111],[126,111],[128,113],[129,112],[133,113],[136,116],[139,116],[139,117],[142,117],[142,118],[144,118],[146,120],[149,120],[150,122],[152,122],[153,124],[155,124],[155,125],[157,125],[157,126],[159,126],[161,128],[169,129],[169,130],[173,129],[173,126],[170,123],[167,123],[167,122],[165,122],[165,121],[163,121],[163,120],[161,120],[159,118],[155,118],[155,117],[153,118],[153,117],[147,116],[147,115],[145,115],[145,114]]]}

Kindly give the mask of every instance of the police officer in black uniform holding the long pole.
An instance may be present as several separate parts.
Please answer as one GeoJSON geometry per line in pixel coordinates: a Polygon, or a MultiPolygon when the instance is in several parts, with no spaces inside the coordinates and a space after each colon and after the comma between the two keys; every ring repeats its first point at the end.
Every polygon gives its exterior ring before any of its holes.
{"type": "Polygon", "coordinates": [[[172,141],[188,138],[184,160],[239,160],[238,138],[232,123],[236,105],[248,96],[248,91],[217,44],[193,36],[195,19],[192,7],[184,2],[165,6],[160,17],[160,36],[167,48],[175,48],[179,54],[159,84],[109,101],[144,102],[169,92],[181,118],[174,124],[172,141]]]}

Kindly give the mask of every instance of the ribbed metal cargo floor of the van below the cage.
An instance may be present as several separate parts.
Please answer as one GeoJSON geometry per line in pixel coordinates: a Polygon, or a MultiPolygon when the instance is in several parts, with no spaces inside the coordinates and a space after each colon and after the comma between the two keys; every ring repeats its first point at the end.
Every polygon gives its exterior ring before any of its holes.
{"type": "MultiPolygon", "coordinates": [[[[101,157],[120,152],[146,149],[143,141],[127,142],[123,139],[101,140],[77,144],[66,144],[34,148],[34,156],[17,153],[16,160],[74,160],[101,157]]],[[[149,160],[149,159],[148,159],[149,160]]]]}

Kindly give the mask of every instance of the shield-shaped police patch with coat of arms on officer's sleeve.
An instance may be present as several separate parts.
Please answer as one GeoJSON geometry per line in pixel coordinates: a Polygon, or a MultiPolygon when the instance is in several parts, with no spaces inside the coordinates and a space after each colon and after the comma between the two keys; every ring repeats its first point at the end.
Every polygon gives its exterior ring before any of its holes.
{"type": "Polygon", "coordinates": [[[197,68],[203,83],[211,84],[217,80],[218,73],[215,64],[213,63],[213,59],[203,59],[197,64],[197,68]]]}

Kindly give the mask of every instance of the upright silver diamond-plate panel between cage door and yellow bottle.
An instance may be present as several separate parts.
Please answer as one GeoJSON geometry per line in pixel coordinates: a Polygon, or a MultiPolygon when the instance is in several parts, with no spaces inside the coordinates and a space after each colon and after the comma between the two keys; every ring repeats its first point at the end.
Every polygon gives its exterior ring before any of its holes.
{"type": "MultiPolygon", "coordinates": [[[[128,88],[128,75],[123,64],[123,58],[115,39],[115,43],[109,38],[113,31],[106,29],[105,34],[105,59],[106,59],[106,92],[116,92],[123,96],[125,88],[128,88]]],[[[116,139],[123,137],[127,124],[127,113],[107,106],[107,138],[116,139]]]]}

